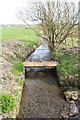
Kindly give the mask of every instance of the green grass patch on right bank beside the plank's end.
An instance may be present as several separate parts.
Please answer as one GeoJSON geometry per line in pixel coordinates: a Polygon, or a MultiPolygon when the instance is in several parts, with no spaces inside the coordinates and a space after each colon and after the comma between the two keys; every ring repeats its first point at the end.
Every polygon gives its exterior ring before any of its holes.
{"type": "Polygon", "coordinates": [[[62,55],[60,59],[58,71],[62,76],[70,77],[79,73],[78,68],[75,67],[78,64],[78,55],[62,55]]]}

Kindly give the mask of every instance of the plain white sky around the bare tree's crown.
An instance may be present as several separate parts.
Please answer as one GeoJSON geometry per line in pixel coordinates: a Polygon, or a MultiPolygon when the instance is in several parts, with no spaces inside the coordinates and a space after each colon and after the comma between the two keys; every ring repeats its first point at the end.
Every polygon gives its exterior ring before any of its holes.
{"type": "MultiPolygon", "coordinates": [[[[69,1],[74,1],[77,5],[79,0],[69,1]]],[[[28,0],[0,0],[0,24],[23,24],[16,17],[16,13],[17,9],[25,2],[28,2],[28,0]]]]}

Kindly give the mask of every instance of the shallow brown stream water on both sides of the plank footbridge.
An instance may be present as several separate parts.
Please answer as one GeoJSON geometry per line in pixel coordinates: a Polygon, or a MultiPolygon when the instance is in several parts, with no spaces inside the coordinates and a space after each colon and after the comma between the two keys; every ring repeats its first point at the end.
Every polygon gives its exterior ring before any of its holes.
{"type": "MultiPolygon", "coordinates": [[[[52,55],[47,45],[43,44],[27,60],[50,61],[52,55]]],[[[59,118],[66,103],[58,86],[56,71],[45,68],[28,68],[26,72],[27,78],[19,118],[59,118]]]]}

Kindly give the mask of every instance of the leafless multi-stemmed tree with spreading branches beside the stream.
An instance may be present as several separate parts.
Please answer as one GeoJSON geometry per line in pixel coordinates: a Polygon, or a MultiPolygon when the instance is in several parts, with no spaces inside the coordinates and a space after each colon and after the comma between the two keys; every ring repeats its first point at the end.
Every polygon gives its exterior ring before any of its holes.
{"type": "Polygon", "coordinates": [[[50,50],[56,51],[61,43],[73,34],[73,28],[77,25],[78,12],[75,4],[66,0],[47,0],[31,2],[29,5],[19,10],[18,18],[27,25],[29,21],[38,23],[50,50]]]}

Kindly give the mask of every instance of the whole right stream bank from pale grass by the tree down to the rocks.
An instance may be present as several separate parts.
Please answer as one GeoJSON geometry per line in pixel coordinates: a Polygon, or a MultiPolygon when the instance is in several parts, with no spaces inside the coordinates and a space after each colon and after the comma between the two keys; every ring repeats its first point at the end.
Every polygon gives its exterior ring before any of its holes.
{"type": "Polygon", "coordinates": [[[66,44],[62,44],[56,51],[56,60],[59,61],[57,72],[61,86],[80,89],[78,49],[78,38],[74,38],[73,43],[67,38],[66,44]]]}

